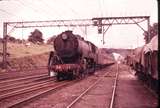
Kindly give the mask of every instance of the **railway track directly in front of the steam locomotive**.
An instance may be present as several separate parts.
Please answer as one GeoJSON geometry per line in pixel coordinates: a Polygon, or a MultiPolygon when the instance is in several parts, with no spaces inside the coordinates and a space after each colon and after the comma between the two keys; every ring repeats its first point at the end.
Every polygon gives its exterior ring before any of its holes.
{"type": "MultiPolygon", "coordinates": [[[[41,97],[41,96],[45,96],[46,94],[48,94],[49,92],[52,91],[56,91],[59,90],[65,86],[69,86],[71,84],[74,84],[75,82],[77,82],[78,80],[74,80],[74,81],[61,81],[61,82],[54,82],[49,81],[49,82],[44,82],[41,83],[39,85],[34,85],[25,89],[21,89],[21,90],[17,90],[8,94],[4,94],[4,95],[0,95],[0,101],[1,100],[8,100],[8,99],[12,99],[13,97],[17,97],[17,101],[11,102],[9,104],[7,104],[5,107],[10,107],[10,108],[17,108],[23,104],[27,104],[28,102],[41,97]],[[25,96],[21,98],[21,95],[25,95],[31,93],[31,95],[25,96]],[[20,98],[19,98],[20,96],[20,98]]],[[[0,106],[2,106],[3,102],[0,103],[0,106]]]]}

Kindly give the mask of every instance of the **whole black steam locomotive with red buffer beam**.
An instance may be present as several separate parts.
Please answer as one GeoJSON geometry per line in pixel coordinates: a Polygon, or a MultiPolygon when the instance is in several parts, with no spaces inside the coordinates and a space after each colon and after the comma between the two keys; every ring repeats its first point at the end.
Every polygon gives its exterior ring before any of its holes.
{"type": "Polygon", "coordinates": [[[49,74],[61,79],[83,77],[87,72],[94,72],[97,61],[97,47],[85,41],[72,31],[59,34],[54,40],[54,52],[50,53],[49,74]]]}

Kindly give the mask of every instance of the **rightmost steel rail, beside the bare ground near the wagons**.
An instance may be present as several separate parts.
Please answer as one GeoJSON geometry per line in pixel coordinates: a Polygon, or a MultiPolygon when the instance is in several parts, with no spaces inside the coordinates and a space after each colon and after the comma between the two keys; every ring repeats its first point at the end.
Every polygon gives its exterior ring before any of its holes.
{"type": "Polygon", "coordinates": [[[110,107],[109,108],[113,108],[113,104],[114,104],[114,100],[115,100],[115,93],[116,93],[116,88],[117,88],[118,75],[119,75],[119,64],[117,63],[116,78],[114,80],[113,91],[112,91],[112,98],[111,98],[111,102],[110,102],[110,107]]]}

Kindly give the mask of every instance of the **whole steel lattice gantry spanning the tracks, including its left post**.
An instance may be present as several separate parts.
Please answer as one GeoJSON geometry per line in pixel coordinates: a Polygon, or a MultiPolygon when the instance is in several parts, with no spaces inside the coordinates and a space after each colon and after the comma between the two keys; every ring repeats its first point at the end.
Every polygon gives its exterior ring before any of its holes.
{"type": "MultiPolygon", "coordinates": [[[[7,68],[7,28],[13,27],[11,31],[16,28],[33,28],[33,27],[85,27],[85,34],[87,34],[88,26],[96,26],[98,33],[104,35],[112,25],[120,24],[136,24],[143,31],[145,30],[139,23],[146,21],[150,25],[150,16],[128,16],[128,17],[96,17],[92,19],[72,19],[72,20],[50,20],[50,21],[23,21],[23,22],[4,22],[3,23],[3,68],[7,68]]],[[[9,31],[9,32],[11,32],[9,31]]],[[[150,40],[150,34],[148,34],[150,40]]]]}

